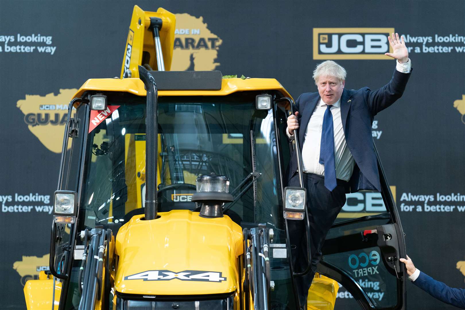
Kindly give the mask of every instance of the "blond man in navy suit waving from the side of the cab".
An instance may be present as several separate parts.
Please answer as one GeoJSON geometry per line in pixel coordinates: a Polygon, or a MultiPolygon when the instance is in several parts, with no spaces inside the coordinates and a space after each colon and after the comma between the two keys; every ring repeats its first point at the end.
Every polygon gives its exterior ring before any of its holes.
{"type": "MultiPolygon", "coordinates": [[[[374,116],[402,96],[411,73],[411,61],[404,38],[388,37],[396,59],[396,70],[385,86],[370,90],[345,90],[346,72],[332,60],[320,63],[313,71],[318,92],[306,92],[295,102],[295,115],[287,119],[287,135],[294,139],[299,129],[302,169],[307,190],[310,220],[312,269],[297,277],[301,307],[305,307],[308,289],[321,259],[321,246],[342,206],[345,193],[359,190],[381,191],[378,163],[373,149],[374,116]]],[[[299,186],[295,152],[288,168],[288,186],[299,186]]],[[[295,271],[306,266],[303,221],[289,221],[289,236],[295,271]]],[[[305,307],[306,309],[306,307],[305,307]]]]}

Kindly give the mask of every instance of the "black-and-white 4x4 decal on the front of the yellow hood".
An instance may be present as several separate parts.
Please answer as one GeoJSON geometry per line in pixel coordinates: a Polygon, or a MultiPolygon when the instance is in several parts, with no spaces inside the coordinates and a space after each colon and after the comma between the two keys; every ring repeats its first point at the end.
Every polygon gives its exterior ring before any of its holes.
{"type": "Polygon", "coordinates": [[[226,281],[226,277],[221,277],[221,272],[184,270],[173,272],[170,270],[147,270],[135,275],[127,276],[125,280],[144,280],[144,281],[169,281],[178,279],[182,281],[203,281],[203,282],[221,282],[226,281]]]}

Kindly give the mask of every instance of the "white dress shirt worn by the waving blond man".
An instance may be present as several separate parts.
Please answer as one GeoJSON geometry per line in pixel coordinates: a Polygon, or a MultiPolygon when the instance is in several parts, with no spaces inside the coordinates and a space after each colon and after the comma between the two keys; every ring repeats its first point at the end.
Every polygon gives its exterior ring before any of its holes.
{"type": "MultiPolygon", "coordinates": [[[[411,68],[411,61],[401,64],[396,60],[396,70],[402,73],[409,73],[411,68]]],[[[323,99],[313,110],[310,121],[305,131],[304,145],[302,145],[302,169],[303,172],[325,175],[325,166],[320,165],[319,155],[321,146],[321,131],[323,129],[323,116],[326,111],[326,103],[323,99]]],[[[342,127],[341,119],[341,99],[332,105],[332,124],[334,134],[334,160],[336,164],[336,178],[344,181],[349,181],[352,176],[355,160],[352,157],[347,143],[345,142],[344,129],[342,127]]],[[[294,136],[289,134],[286,128],[287,137],[294,139],[294,136]]]]}

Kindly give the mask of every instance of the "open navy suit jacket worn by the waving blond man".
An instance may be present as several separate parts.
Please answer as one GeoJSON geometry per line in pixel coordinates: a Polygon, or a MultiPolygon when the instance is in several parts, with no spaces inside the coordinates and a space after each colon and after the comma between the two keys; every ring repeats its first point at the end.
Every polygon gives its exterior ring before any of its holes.
{"type": "MultiPolygon", "coordinates": [[[[342,126],[347,147],[356,163],[346,192],[381,191],[378,162],[373,148],[373,118],[379,111],[391,106],[402,96],[411,73],[412,70],[410,73],[394,70],[391,81],[375,91],[364,87],[359,90],[344,90],[342,92],[342,126]]],[[[299,111],[298,138],[301,146],[304,145],[307,125],[319,100],[318,92],[306,92],[301,94],[295,102],[296,110],[299,111]]],[[[293,152],[287,169],[288,181],[295,173],[297,173],[297,158],[293,152]]]]}

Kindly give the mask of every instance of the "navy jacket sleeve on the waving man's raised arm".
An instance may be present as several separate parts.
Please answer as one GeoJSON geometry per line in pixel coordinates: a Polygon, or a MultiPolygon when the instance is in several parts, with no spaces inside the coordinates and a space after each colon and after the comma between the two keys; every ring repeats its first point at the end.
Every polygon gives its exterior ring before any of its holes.
{"type": "Polygon", "coordinates": [[[394,70],[391,80],[385,86],[375,91],[371,91],[368,87],[363,89],[365,102],[368,104],[372,116],[391,106],[402,96],[411,73],[412,69],[410,69],[410,73],[394,70]]]}

